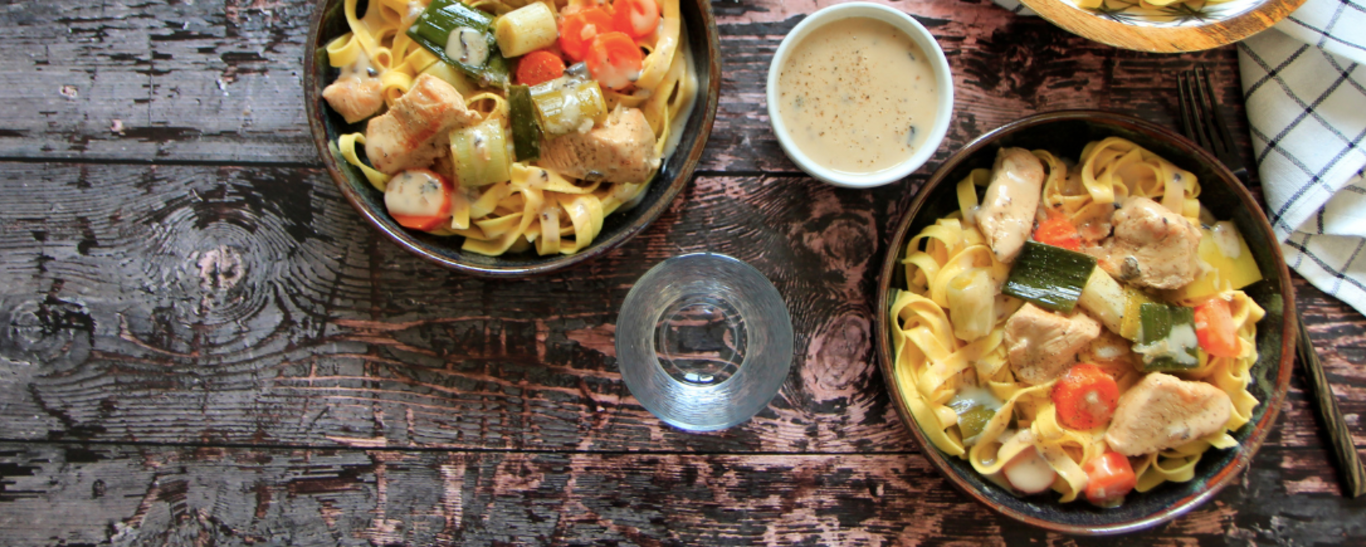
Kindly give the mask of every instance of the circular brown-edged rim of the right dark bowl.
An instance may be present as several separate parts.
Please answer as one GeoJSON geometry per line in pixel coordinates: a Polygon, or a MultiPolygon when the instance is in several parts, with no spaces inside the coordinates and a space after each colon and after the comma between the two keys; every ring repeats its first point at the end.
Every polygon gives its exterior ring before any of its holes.
{"type": "Polygon", "coordinates": [[[1188,513],[1190,510],[1195,509],[1197,506],[1205,503],[1210,498],[1213,498],[1216,494],[1224,490],[1224,487],[1232,483],[1232,480],[1240,472],[1243,472],[1247,468],[1247,465],[1251,462],[1253,455],[1258,451],[1258,449],[1261,449],[1262,442],[1266,439],[1270,427],[1276,423],[1276,417],[1280,413],[1280,408],[1285,401],[1285,395],[1290,387],[1291,365],[1295,360],[1295,341],[1296,341],[1295,335],[1298,334],[1296,331],[1298,315],[1292,313],[1292,310],[1295,309],[1294,308],[1295,293],[1294,293],[1294,286],[1291,284],[1290,280],[1290,269],[1285,267],[1285,260],[1281,256],[1280,248],[1273,245],[1270,253],[1272,257],[1274,258],[1274,267],[1280,274],[1279,289],[1281,291],[1284,309],[1287,310],[1283,315],[1284,320],[1281,324],[1280,369],[1277,371],[1276,375],[1276,386],[1272,390],[1272,397],[1268,401],[1261,402],[1261,405],[1266,405],[1265,406],[1266,412],[1262,414],[1261,420],[1253,424],[1254,429],[1242,443],[1242,449],[1233,457],[1233,461],[1217,469],[1213,476],[1208,477],[1206,479],[1208,485],[1202,491],[1182,498],[1176,503],[1138,520],[1121,521],[1115,524],[1102,524],[1102,525],[1071,525],[1071,524],[1061,524],[1056,521],[1044,520],[1029,513],[1020,513],[1011,507],[993,503],[989,499],[986,499],[986,496],[984,496],[982,492],[979,492],[975,487],[963,480],[963,477],[960,477],[955,472],[955,469],[949,466],[947,457],[938,449],[930,444],[929,439],[926,439],[925,433],[915,423],[915,418],[911,416],[910,408],[902,398],[900,387],[896,384],[896,382],[892,380],[895,377],[895,375],[892,373],[892,368],[895,366],[895,356],[892,354],[891,332],[889,332],[891,327],[889,321],[892,319],[889,317],[889,309],[887,304],[889,302],[888,298],[891,297],[891,289],[892,289],[891,283],[893,279],[895,268],[899,264],[897,256],[902,252],[902,246],[904,246],[906,243],[906,238],[908,237],[907,232],[910,231],[912,220],[929,201],[930,189],[941,183],[945,183],[944,181],[948,178],[949,172],[953,171],[953,168],[956,168],[959,164],[962,164],[963,161],[966,161],[968,157],[978,153],[984,148],[994,145],[996,139],[1001,135],[1014,134],[1020,130],[1027,130],[1041,124],[1048,124],[1053,122],[1067,122],[1067,120],[1128,124],[1142,131],[1156,133],[1161,137],[1175,139],[1176,142],[1190,149],[1191,153],[1199,156],[1202,161],[1214,165],[1218,176],[1224,179],[1225,183],[1228,183],[1229,187],[1232,189],[1232,193],[1238,196],[1240,201],[1239,205],[1242,205],[1249,211],[1254,222],[1257,222],[1258,226],[1262,230],[1265,230],[1266,234],[1272,234],[1272,228],[1270,224],[1266,222],[1265,212],[1262,212],[1262,208],[1255,202],[1255,200],[1251,197],[1247,189],[1240,182],[1238,182],[1233,174],[1228,171],[1227,167],[1224,167],[1213,155],[1206,152],[1203,148],[1199,148],[1195,142],[1176,134],[1175,131],[1167,127],[1134,116],[1104,112],[1104,111],[1083,111],[1083,109],[1056,111],[1056,112],[1044,112],[1044,114],[1024,116],[1014,122],[1009,122],[1001,127],[990,130],[982,134],[981,137],[974,138],[971,142],[968,142],[962,149],[949,156],[948,160],[940,164],[940,168],[934,171],[934,175],[930,176],[930,179],[925,183],[925,186],[919,189],[911,206],[906,211],[906,213],[902,215],[902,217],[896,223],[896,227],[892,231],[889,246],[887,248],[888,249],[887,256],[882,261],[881,269],[878,271],[878,287],[876,297],[877,299],[874,301],[876,305],[874,328],[877,330],[874,343],[877,346],[877,356],[880,365],[878,369],[882,372],[882,379],[887,383],[887,390],[893,401],[893,405],[896,405],[897,414],[902,417],[902,421],[906,424],[906,428],[911,431],[911,435],[915,438],[917,444],[919,444],[921,453],[925,455],[925,458],[929,459],[934,465],[934,468],[937,468],[940,473],[943,473],[944,477],[948,479],[948,481],[952,483],[959,491],[967,494],[970,498],[977,499],[978,502],[992,509],[993,511],[1024,524],[1070,535],[1106,536],[1106,535],[1137,532],[1180,517],[1188,513]]]}

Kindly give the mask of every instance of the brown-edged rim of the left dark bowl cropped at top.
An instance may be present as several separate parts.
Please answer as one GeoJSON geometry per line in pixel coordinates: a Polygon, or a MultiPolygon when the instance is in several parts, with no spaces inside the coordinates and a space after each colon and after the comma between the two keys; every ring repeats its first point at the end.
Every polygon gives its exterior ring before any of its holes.
{"type": "MultiPolygon", "coordinates": [[[[682,165],[675,174],[673,181],[669,183],[664,193],[646,206],[641,213],[637,223],[626,226],[623,230],[612,234],[608,238],[594,239],[587,249],[583,249],[574,254],[560,254],[555,260],[530,264],[530,265],[496,265],[496,264],[470,264],[459,260],[447,258],[445,256],[429,252],[425,249],[429,243],[417,239],[413,234],[403,228],[392,228],[380,220],[380,212],[369,209],[361,200],[355,187],[351,186],[347,176],[342,172],[340,165],[329,150],[329,141],[326,138],[326,126],[324,124],[324,115],[326,108],[322,103],[321,85],[317,85],[317,44],[320,44],[320,34],[322,33],[322,19],[329,11],[332,4],[340,3],[342,0],[320,0],[314,3],[313,12],[309,15],[309,34],[303,45],[303,103],[305,115],[309,118],[309,133],[313,137],[313,145],[318,150],[318,156],[322,159],[322,167],[326,168],[328,175],[331,175],[332,182],[337,185],[342,190],[342,196],[346,201],[351,204],[351,208],[361,213],[372,228],[384,234],[391,242],[399,248],[422,257],[423,260],[458,271],[460,274],[473,275],[477,278],[529,278],[540,276],[557,271],[563,271],[575,265],[581,265],[593,258],[598,258],[602,254],[609,253],[622,243],[626,243],[639,232],[645,231],[646,227],[654,224],[656,220],[669,209],[673,200],[683,191],[683,189],[691,182],[693,174],[697,165],[702,160],[702,153],[706,149],[706,142],[712,135],[712,126],[716,122],[716,109],[720,104],[721,96],[721,46],[720,46],[720,31],[716,26],[716,16],[712,11],[712,3],[706,0],[695,0],[694,4],[698,7],[698,12],[702,18],[702,31],[706,36],[706,51],[712,52],[709,55],[708,63],[708,85],[706,89],[699,93],[697,103],[694,103],[694,111],[691,115],[702,115],[702,122],[698,126],[698,138],[693,142],[691,148],[684,149],[683,144],[673,150],[673,155],[686,153],[682,165]],[[701,107],[701,112],[695,108],[701,107]]],[[[683,0],[686,1],[686,0],[683,0]]],[[[697,45],[693,46],[694,52],[697,45]]],[[[656,175],[658,178],[658,175],[656,175]]],[[[652,181],[657,183],[658,181],[652,181]]]]}

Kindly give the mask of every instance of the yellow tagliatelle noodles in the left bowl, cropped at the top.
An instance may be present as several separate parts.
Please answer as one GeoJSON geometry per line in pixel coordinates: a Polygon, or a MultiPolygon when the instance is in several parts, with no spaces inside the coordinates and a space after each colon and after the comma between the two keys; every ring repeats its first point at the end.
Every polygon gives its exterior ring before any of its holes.
{"type": "MultiPolygon", "coordinates": [[[[466,105],[482,115],[482,120],[501,119],[508,126],[508,105],[500,92],[478,92],[452,67],[441,63],[407,36],[408,26],[422,14],[429,0],[370,0],[365,16],[357,16],[357,1],[346,0],[347,25],[351,31],[328,44],[332,67],[367,63],[378,72],[382,97],[392,105],[421,74],[432,74],[455,86],[466,97],[466,105]]],[[[493,15],[503,15],[529,0],[478,0],[467,5],[493,15]]],[[[544,1],[552,12],[568,0],[544,1]]],[[[616,105],[639,108],[656,137],[656,152],[667,156],[680,130],[694,97],[697,77],[691,71],[687,42],[682,34],[678,0],[660,0],[663,23],[646,38],[641,75],[635,93],[624,94],[602,89],[608,109],[616,105]]],[[[357,153],[365,145],[365,134],[351,133],[337,138],[337,152],[355,165],[377,190],[384,191],[389,181],[366,165],[357,153]]],[[[454,217],[449,226],[432,230],[437,235],[464,237],[463,249],[473,253],[499,256],[535,246],[538,254],[572,254],[589,243],[602,230],[604,217],[623,206],[634,205],[643,196],[650,181],[634,183],[585,182],[561,176],[534,163],[512,163],[511,181],[469,189],[458,187],[452,196],[454,217]]],[[[652,176],[653,178],[653,176],[652,176]]]]}

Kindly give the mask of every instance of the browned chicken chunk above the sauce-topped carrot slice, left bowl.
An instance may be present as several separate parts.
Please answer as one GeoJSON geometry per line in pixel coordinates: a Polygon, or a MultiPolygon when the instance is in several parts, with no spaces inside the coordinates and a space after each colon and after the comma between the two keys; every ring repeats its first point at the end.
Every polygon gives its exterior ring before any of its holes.
{"type": "Polygon", "coordinates": [[[365,155],[387,174],[426,167],[445,153],[448,131],[478,122],[449,83],[422,74],[393,105],[365,129],[365,155]]]}

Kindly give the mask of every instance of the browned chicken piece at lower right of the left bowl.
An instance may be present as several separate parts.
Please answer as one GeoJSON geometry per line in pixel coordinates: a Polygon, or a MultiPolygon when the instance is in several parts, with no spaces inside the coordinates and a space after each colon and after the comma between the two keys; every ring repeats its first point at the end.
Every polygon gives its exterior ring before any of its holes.
{"type": "Polygon", "coordinates": [[[601,127],[546,141],[538,164],[579,179],[645,182],[660,167],[660,157],[645,114],[617,107],[601,127]]]}

